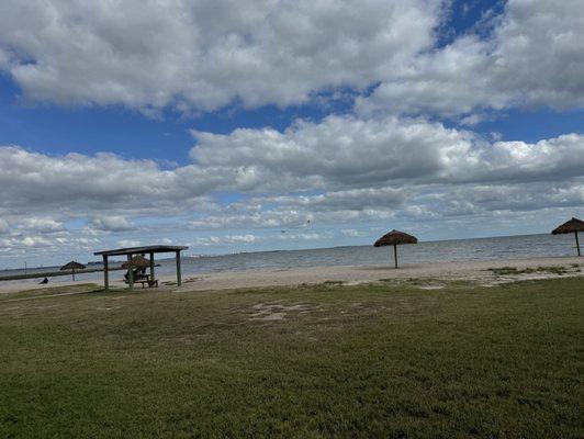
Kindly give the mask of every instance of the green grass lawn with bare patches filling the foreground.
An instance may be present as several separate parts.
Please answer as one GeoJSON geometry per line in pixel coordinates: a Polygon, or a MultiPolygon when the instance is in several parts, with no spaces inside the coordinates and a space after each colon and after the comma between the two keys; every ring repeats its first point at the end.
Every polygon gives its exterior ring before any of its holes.
{"type": "Polygon", "coordinates": [[[2,438],[584,437],[582,278],[58,293],[0,296],[2,438]]]}

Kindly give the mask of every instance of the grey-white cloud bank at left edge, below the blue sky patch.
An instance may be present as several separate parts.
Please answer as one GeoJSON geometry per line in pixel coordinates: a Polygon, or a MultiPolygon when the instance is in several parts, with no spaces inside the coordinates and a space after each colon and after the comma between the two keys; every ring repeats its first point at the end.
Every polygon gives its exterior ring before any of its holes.
{"type": "Polygon", "coordinates": [[[46,209],[69,216],[104,209],[148,212],[155,204],[158,213],[175,212],[200,206],[205,202],[201,195],[217,181],[189,166],[166,171],[151,160],[124,160],[111,154],[53,157],[14,146],[0,147],[0,170],[3,215],[46,209]]]}

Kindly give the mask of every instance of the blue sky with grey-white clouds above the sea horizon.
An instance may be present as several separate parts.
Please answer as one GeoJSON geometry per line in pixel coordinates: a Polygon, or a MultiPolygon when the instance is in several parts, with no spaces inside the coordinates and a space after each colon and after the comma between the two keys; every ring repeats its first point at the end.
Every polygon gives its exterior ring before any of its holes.
{"type": "Polygon", "coordinates": [[[0,269],[549,233],[582,0],[3,0],[0,269]]]}

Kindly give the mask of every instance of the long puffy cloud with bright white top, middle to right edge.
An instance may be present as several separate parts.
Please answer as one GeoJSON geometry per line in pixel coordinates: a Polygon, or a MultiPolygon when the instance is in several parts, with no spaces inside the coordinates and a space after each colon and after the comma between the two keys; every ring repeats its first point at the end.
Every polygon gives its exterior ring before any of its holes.
{"type": "Polygon", "coordinates": [[[440,123],[395,116],[333,115],[319,123],[297,121],[283,133],[239,128],[227,135],[193,135],[194,162],[223,168],[233,188],[330,192],[297,203],[332,203],[335,196],[361,203],[392,198],[395,203],[404,194],[396,188],[412,183],[565,179],[584,169],[584,136],[579,134],[535,144],[491,143],[440,123]],[[374,191],[333,193],[350,188],[374,191]]]}

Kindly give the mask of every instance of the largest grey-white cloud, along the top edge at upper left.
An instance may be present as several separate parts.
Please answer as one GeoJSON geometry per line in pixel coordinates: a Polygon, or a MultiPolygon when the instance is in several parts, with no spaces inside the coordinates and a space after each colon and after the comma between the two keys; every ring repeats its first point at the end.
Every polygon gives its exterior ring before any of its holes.
{"type": "Polygon", "coordinates": [[[19,1],[0,68],[32,100],[145,111],[290,105],[364,88],[433,45],[440,0],[19,1]]]}

